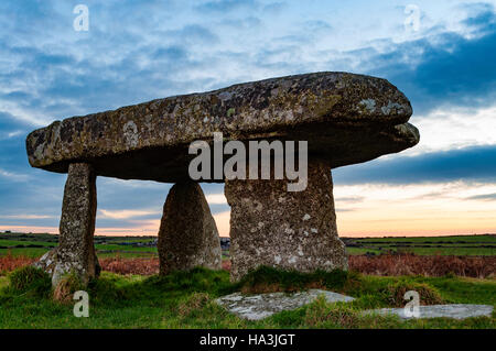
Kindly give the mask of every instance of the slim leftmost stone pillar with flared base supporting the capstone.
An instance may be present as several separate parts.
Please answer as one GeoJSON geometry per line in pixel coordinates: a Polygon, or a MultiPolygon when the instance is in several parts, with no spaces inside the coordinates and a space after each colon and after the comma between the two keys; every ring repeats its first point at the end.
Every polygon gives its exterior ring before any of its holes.
{"type": "Polygon", "coordinates": [[[86,163],[71,164],[64,188],[58,246],[35,264],[52,275],[53,285],[73,271],[84,284],[99,275],[100,266],[93,243],[96,207],[93,167],[86,163]]]}

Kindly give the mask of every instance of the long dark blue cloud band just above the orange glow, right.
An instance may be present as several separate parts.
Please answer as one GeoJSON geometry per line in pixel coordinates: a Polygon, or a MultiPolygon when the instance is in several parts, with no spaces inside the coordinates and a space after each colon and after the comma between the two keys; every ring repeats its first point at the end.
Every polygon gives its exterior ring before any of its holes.
{"type": "Polygon", "coordinates": [[[496,145],[396,156],[333,171],[341,184],[418,184],[453,180],[496,183],[496,145]]]}

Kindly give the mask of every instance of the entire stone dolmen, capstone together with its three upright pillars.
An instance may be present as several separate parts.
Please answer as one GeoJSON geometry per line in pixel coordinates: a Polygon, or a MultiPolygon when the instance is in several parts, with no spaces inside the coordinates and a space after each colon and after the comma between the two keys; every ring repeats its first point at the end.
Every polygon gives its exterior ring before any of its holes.
{"type": "Polygon", "coordinates": [[[105,176],[174,184],[159,230],[161,274],[220,267],[198,183],[225,184],[233,281],[259,265],[346,270],[331,169],[416,145],[411,113],[385,79],[324,72],[55,121],[26,139],[31,166],[67,173],[60,244],[36,264],[54,284],[68,272],[98,275],[95,182],[105,176]]]}

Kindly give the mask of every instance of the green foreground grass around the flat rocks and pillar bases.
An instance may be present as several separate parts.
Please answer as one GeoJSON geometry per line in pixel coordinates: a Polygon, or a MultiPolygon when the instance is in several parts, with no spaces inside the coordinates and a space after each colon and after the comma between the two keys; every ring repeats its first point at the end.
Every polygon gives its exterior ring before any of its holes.
{"type": "MultiPolygon", "coordinates": [[[[12,274],[10,275],[12,279],[12,274]]],[[[0,328],[495,328],[496,315],[466,320],[445,318],[400,321],[395,317],[362,316],[360,310],[398,307],[405,289],[421,292],[421,301],[472,303],[496,306],[496,281],[446,277],[378,277],[335,271],[296,274],[261,268],[239,284],[225,271],[195,268],[165,277],[104,272],[87,290],[89,318],[73,316],[73,304],[55,301],[50,278],[13,287],[0,277],[0,328]],[[48,282],[48,285],[46,285],[48,282]],[[40,287],[41,286],[41,287],[40,287]],[[214,298],[244,290],[295,290],[321,287],[354,296],[349,304],[317,299],[298,310],[261,321],[228,314],[214,298]],[[422,299],[423,296],[423,299],[422,299]]],[[[14,282],[18,282],[19,278],[14,282]]]]}

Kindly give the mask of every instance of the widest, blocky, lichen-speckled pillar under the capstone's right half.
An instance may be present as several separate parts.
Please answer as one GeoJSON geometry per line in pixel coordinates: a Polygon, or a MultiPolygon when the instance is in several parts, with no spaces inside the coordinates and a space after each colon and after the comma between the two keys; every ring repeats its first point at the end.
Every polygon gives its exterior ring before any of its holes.
{"type": "Polygon", "coordinates": [[[288,191],[287,180],[226,180],[231,207],[231,279],[259,265],[312,272],[347,268],[337,237],[331,168],[309,162],[308,187],[288,191]]]}

